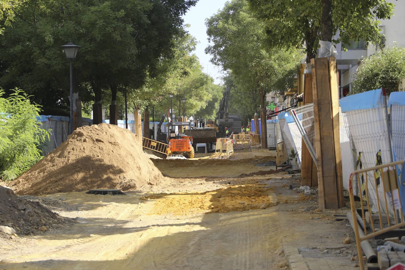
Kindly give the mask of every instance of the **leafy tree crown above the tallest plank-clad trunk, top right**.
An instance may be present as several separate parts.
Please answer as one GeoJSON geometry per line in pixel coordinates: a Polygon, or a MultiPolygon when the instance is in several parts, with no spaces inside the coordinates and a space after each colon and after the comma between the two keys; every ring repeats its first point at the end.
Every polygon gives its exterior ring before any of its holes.
{"type": "Polygon", "coordinates": [[[377,43],[378,19],[389,19],[393,4],[386,0],[248,0],[264,22],[268,46],[302,48],[307,63],[317,55],[319,40],[350,44],[377,43]],[[339,33],[336,39],[333,37],[339,33]]]}

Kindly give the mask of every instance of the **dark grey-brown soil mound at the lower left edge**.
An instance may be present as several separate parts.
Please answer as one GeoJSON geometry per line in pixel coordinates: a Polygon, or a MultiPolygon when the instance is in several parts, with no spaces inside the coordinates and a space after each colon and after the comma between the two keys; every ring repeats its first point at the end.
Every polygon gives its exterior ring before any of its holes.
{"type": "Polygon", "coordinates": [[[13,227],[17,233],[36,234],[58,227],[70,219],[61,218],[38,202],[15,195],[13,190],[0,186],[0,225],[13,227]]]}

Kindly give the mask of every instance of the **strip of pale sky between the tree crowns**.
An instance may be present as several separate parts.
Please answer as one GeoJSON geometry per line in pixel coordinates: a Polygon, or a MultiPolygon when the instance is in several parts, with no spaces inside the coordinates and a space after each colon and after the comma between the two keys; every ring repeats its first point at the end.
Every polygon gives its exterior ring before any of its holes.
{"type": "Polygon", "coordinates": [[[217,13],[219,9],[222,9],[226,1],[227,0],[200,0],[183,17],[184,23],[190,24],[188,32],[190,32],[192,36],[195,36],[199,42],[194,53],[200,59],[200,63],[204,67],[204,72],[211,75],[217,84],[223,83],[221,77],[224,76],[224,74],[222,73],[222,68],[214,66],[209,61],[211,56],[204,52],[208,45],[205,19],[217,13]]]}

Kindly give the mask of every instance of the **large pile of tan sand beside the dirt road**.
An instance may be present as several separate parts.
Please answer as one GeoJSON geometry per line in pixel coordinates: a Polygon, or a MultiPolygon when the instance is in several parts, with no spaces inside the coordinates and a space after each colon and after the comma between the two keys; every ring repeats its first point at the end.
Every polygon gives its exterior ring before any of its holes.
{"type": "Polygon", "coordinates": [[[13,181],[18,194],[87,189],[134,190],[157,185],[162,174],[142,152],[137,135],[116,125],[75,130],[68,140],[13,181]]]}

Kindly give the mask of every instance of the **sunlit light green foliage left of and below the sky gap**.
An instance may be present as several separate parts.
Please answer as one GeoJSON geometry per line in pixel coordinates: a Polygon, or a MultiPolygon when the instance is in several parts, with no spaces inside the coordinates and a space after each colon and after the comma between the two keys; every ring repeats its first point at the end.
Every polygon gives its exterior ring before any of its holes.
{"type": "MultiPolygon", "coordinates": [[[[170,108],[169,94],[173,94],[173,111],[176,116],[183,115],[181,98],[187,98],[187,116],[211,118],[217,110],[218,96],[222,89],[213,84],[213,79],[202,72],[196,55],[192,52],[196,40],[190,34],[181,35],[173,40],[172,57],[164,58],[157,68],[156,77],[147,76],[143,87],[131,91],[128,102],[140,108],[155,108],[156,118],[167,115],[170,108]]],[[[117,100],[119,104],[119,100],[117,100]]],[[[122,104],[122,103],[120,103],[122,104]]]]}

